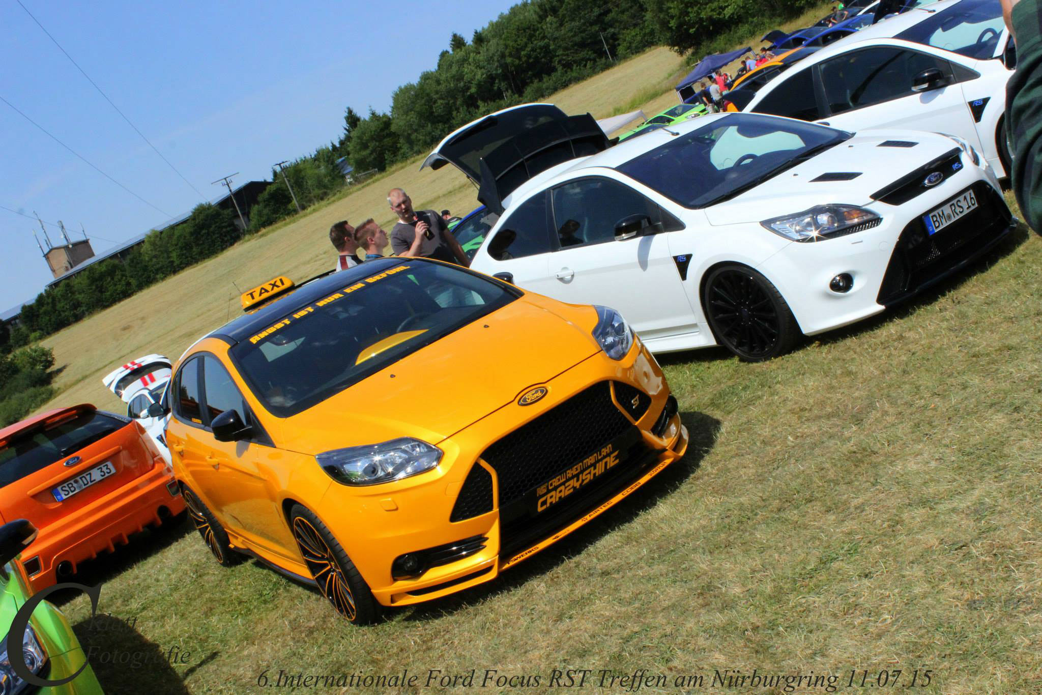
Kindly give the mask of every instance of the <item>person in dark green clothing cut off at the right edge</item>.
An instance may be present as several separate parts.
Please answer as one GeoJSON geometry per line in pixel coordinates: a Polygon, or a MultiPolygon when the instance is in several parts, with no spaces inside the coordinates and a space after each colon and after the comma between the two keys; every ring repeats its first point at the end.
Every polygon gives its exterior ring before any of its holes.
{"type": "Polygon", "coordinates": [[[1010,184],[1027,226],[1042,233],[1042,7],[1040,0],[1001,3],[1017,44],[1017,70],[1006,84],[1010,184]]]}

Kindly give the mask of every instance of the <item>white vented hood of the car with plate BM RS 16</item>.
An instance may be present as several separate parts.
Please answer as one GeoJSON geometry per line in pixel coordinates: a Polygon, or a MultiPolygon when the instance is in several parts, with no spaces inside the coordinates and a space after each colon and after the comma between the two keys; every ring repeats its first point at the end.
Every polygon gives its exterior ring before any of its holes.
{"type": "Polygon", "coordinates": [[[956,143],[936,133],[862,130],[740,196],[706,207],[705,215],[710,224],[725,225],[760,222],[825,203],[870,205],[873,193],[952,147],[956,143]]]}

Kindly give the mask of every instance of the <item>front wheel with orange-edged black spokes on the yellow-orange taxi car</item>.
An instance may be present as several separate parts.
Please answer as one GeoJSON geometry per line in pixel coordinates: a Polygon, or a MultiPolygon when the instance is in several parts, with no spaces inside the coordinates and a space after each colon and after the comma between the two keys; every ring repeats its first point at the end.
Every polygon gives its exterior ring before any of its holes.
{"type": "Polygon", "coordinates": [[[290,510],[290,526],[319,592],[337,613],[355,625],[376,622],[379,604],[326,525],[311,510],[294,504],[290,510]]]}

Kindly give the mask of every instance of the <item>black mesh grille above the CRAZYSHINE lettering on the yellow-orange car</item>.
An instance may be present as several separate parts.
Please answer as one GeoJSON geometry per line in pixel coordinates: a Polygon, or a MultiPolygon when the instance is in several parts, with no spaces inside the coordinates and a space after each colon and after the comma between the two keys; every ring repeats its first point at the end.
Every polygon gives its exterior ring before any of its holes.
{"type": "Polygon", "coordinates": [[[499,479],[499,508],[629,428],[636,429],[612,402],[610,382],[601,381],[515,429],[481,454],[499,479]]]}

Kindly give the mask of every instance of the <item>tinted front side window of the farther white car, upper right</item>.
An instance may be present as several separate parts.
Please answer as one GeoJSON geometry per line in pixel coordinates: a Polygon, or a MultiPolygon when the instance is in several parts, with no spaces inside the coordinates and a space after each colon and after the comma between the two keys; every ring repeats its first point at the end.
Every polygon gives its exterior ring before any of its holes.
{"type": "Polygon", "coordinates": [[[898,48],[869,48],[821,64],[821,81],[833,114],[843,114],[915,94],[912,81],[929,68],[951,74],[947,60],[898,48]]]}

